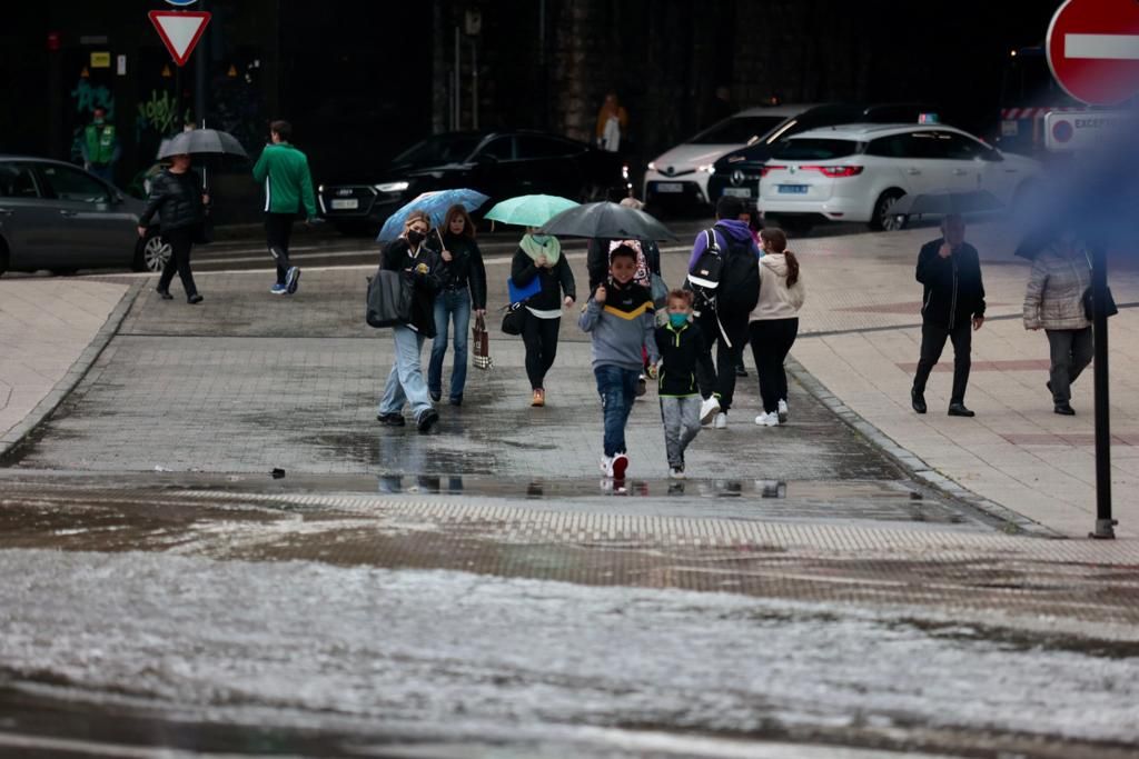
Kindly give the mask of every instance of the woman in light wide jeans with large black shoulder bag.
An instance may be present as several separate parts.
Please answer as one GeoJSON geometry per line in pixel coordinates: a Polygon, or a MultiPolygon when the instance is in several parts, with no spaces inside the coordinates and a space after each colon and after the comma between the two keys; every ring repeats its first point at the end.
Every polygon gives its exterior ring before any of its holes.
{"type": "Polygon", "coordinates": [[[403,234],[384,248],[380,258],[382,267],[403,273],[412,296],[408,323],[392,328],[395,363],[384,386],[377,419],[387,427],[403,427],[403,406],[410,404],[420,432],[431,431],[439,422],[420,361],[424,340],[435,337],[435,296],[440,287],[439,255],[425,245],[429,230],[431,217],[421,211],[411,212],[403,223],[403,234]]]}

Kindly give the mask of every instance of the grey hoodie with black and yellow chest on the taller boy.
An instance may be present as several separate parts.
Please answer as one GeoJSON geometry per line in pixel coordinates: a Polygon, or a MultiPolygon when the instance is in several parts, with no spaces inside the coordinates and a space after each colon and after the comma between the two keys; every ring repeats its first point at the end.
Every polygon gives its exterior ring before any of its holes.
{"type": "Polygon", "coordinates": [[[595,298],[582,310],[577,325],[592,335],[593,366],[621,366],[639,370],[641,346],[648,349],[649,361],[656,363],[661,355],[654,331],[656,313],[648,288],[630,282],[624,287],[611,282],[606,287],[605,303],[595,298]]]}

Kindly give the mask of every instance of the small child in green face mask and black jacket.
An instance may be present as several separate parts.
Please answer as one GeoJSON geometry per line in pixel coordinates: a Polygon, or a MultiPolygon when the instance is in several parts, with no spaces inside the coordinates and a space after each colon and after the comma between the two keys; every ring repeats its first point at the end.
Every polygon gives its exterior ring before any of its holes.
{"type": "Polygon", "coordinates": [[[700,404],[711,396],[715,366],[704,333],[693,322],[693,294],[672,290],[669,321],[656,328],[661,352],[658,393],[669,477],[685,478],[685,449],[700,431],[700,404]]]}

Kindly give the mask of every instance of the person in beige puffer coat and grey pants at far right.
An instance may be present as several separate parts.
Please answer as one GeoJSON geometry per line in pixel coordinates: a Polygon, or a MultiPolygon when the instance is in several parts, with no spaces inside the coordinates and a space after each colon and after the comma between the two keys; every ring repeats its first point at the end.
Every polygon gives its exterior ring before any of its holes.
{"type": "Polygon", "coordinates": [[[1024,328],[1043,329],[1051,352],[1048,389],[1058,414],[1071,416],[1072,382],[1092,357],[1091,322],[1083,312],[1083,294],[1091,286],[1084,251],[1071,241],[1057,241],[1036,254],[1024,295],[1024,328]]]}

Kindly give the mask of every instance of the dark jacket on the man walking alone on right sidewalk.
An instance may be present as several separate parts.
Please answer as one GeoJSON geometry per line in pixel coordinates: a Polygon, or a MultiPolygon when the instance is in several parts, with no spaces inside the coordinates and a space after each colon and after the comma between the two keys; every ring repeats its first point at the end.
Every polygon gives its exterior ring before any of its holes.
{"type": "Polygon", "coordinates": [[[985,287],[977,249],[962,242],[953,255],[942,258],[937,250],[944,241],[939,238],[921,246],[915,277],[925,286],[921,321],[953,329],[974,316],[985,315],[985,287]]]}

